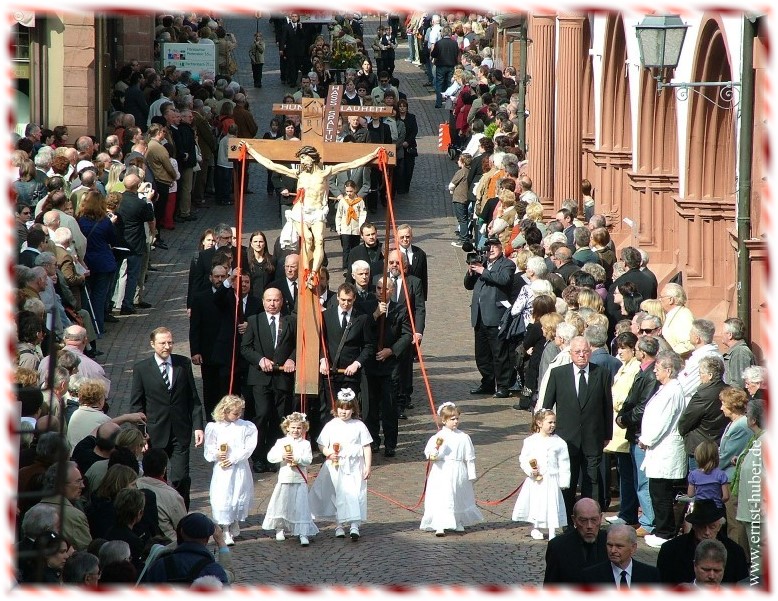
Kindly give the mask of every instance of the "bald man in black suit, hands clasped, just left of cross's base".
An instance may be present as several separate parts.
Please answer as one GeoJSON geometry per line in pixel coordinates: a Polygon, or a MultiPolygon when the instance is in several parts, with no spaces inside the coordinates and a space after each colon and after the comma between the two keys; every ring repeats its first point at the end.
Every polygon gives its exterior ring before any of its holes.
{"type": "Polygon", "coordinates": [[[281,418],[292,412],[297,352],[297,320],[282,313],[284,297],[275,287],[262,294],[264,313],[247,318],[240,352],[248,361],[246,380],[254,397],[258,441],[254,470],[270,470],[267,452],[281,436],[281,418]]]}

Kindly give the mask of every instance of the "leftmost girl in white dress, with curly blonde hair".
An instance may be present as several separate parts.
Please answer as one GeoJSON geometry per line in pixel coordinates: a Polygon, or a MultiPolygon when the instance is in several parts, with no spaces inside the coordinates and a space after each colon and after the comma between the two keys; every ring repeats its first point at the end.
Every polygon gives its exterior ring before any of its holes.
{"type": "Polygon", "coordinates": [[[257,427],[241,419],[246,402],[228,394],[213,410],[205,427],[205,460],[213,462],[211,513],[224,531],[224,541],[235,544],[254,499],[254,479],[249,457],[257,446],[257,427]]]}

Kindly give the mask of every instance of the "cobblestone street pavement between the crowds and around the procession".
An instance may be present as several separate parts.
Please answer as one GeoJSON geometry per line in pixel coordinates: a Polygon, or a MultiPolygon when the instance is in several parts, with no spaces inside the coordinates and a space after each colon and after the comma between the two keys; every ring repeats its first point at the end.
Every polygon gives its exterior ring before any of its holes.
{"type": "MultiPolygon", "coordinates": [[[[377,19],[366,20],[368,44],[377,19]]],[[[279,80],[278,52],[274,35],[265,19],[226,19],[228,31],[235,33],[239,47],[237,79],[248,91],[250,106],[260,136],[268,129],[270,106],[280,102],[288,90],[279,80]],[[251,87],[248,48],[257,24],[265,35],[267,51],[263,87],[251,87]]],[[[367,45],[367,44],[366,44],[367,45]]],[[[419,157],[411,192],[395,200],[397,224],[410,223],[415,243],[429,256],[430,298],[427,303],[427,329],[422,344],[434,405],[453,401],[462,410],[461,429],[475,445],[478,478],[475,481],[485,523],[465,533],[436,538],[419,530],[423,504],[419,504],[424,486],[426,462],[423,449],[435,433],[432,405],[428,398],[419,364],[416,364],[413,401],[407,421],[400,422],[397,456],[383,457],[383,449],[374,455],[369,480],[368,522],[362,537],[354,543],[334,537],[334,526],[320,523],[321,533],[308,548],[294,539],[276,542],[272,532],[261,530],[264,510],[275,485],[275,474],[257,474],[255,507],[232,548],[236,580],[240,584],[266,585],[504,585],[539,584],[543,579],[546,543],[529,536],[529,527],[511,521],[516,499],[514,491],[524,476],[518,467],[521,441],[529,432],[529,413],[516,411],[516,399],[471,397],[469,388],[479,381],[473,360],[473,334],[469,324],[470,293],[462,286],[466,270],[464,253],[450,245],[455,220],[447,184],[456,165],[437,149],[438,124],[446,119],[444,109],[434,108],[434,93],[423,86],[422,71],[404,59],[407,44],[397,50],[396,74],[401,89],[408,95],[410,111],[419,122],[419,157]],[[390,497],[391,500],[384,497],[390,497]],[[403,507],[403,505],[405,507],[403,507]]],[[[275,200],[265,194],[265,173],[251,164],[251,194],[246,196],[243,224],[244,240],[262,229],[272,242],[281,223],[275,200]]],[[[137,315],[122,316],[110,324],[100,342],[105,352],[105,369],[112,381],[111,414],[128,410],[133,363],[151,352],[149,332],[165,325],[174,334],[175,352],[189,355],[188,323],[185,310],[186,281],[190,259],[196,252],[199,233],[220,222],[234,223],[232,209],[211,205],[198,212],[198,221],[177,224],[165,232],[170,250],[155,250],[152,263],[159,271],[151,272],[146,300],[153,309],[137,315]]],[[[384,222],[377,219],[383,238],[384,222]]],[[[340,283],[340,244],[336,234],[327,232],[326,249],[331,261],[332,288],[340,283]]],[[[195,376],[200,386],[199,370],[195,376]]],[[[321,457],[311,467],[313,476],[321,457]]],[[[210,514],[208,488],[212,466],[203,459],[201,449],[193,450],[191,510],[210,514]]],[[[656,551],[640,543],[638,557],[655,563],[656,551]]]]}

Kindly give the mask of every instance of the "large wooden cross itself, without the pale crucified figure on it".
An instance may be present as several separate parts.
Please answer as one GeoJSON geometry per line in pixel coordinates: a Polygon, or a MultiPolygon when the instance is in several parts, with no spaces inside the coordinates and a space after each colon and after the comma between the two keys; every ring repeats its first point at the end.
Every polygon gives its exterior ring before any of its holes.
{"type": "MultiPolygon", "coordinates": [[[[393,144],[344,144],[337,142],[340,115],[385,116],[392,114],[388,107],[341,106],[343,86],[330,86],[327,98],[302,98],[300,104],[274,104],[273,113],[289,115],[300,113],[301,139],[259,140],[254,138],[233,138],[230,140],[230,159],[240,158],[240,143],[246,142],[259,154],[278,163],[297,163],[295,153],[302,146],[313,146],[319,151],[323,163],[345,163],[363,157],[377,146],[386,150],[387,163],[395,165],[396,153],[393,144]]],[[[246,156],[251,158],[250,154],[246,156]]],[[[237,170],[236,170],[237,171],[237,170]]],[[[235,190],[240,190],[238,186],[235,190]]],[[[307,247],[300,238],[300,266],[311,264],[307,247]]],[[[302,272],[301,272],[302,273],[302,272]]],[[[296,394],[318,394],[319,392],[319,340],[321,336],[319,298],[306,286],[299,286],[297,297],[297,377],[296,394]]],[[[332,357],[330,357],[332,360],[332,357]]]]}

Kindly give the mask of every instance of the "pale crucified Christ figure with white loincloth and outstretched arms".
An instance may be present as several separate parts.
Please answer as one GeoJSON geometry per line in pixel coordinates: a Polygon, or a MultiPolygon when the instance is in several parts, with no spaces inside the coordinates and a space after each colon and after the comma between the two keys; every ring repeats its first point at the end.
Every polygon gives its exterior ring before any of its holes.
{"type": "Polygon", "coordinates": [[[246,146],[249,154],[263,167],[297,180],[297,195],[291,215],[295,222],[301,224],[308,251],[307,256],[312,257],[309,259],[310,264],[306,266],[308,276],[305,281],[305,285],[312,290],[316,274],[319,273],[319,268],[324,261],[324,226],[329,211],[327,206],[329,178],[341,171],[366,165],[378,157],[380,148],[348,163],[325,165],[321,162],[319,152],[313,146],[303,146],[295,154],[300,160],[300,170],[295,171],[286,165],[281,165],[262,156],[245,142],[241,142],[241,145],[246,146]]]}

